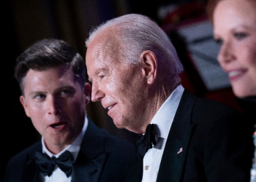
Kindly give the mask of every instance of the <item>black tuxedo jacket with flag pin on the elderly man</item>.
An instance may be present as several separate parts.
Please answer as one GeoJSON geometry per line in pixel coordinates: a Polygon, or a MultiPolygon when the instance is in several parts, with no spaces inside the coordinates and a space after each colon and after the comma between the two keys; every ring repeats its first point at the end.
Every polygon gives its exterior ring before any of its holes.
{"type": "MultiPolygon", "coordinates": [[[[184,90],[157,182],[249,182],[253,132],[252,123],[238,111],[184,90]]],[[[141,160],[138,156],[127,182],[141,181],[141,160]]]]}

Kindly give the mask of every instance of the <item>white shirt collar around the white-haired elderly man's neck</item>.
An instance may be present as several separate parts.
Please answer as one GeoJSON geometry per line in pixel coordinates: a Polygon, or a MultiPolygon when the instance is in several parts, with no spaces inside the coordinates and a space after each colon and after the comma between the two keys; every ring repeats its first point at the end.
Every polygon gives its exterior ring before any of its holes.
{"type": "Polygon", "coordinates": [[[173,90],[165,103],[159,108],[157,114],[154,115],[151,124],[157,124],[157,129],[154,130],[155,135],[167,138],[183,92],[184,87],[181,85],[176,87],[176,90],[173,90]]]}

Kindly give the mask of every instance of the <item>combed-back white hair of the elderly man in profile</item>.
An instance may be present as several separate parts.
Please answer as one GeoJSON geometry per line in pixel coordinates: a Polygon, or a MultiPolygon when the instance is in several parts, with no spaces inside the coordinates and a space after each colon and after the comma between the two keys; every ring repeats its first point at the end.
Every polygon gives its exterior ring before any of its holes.
{"type": "Polygon", "coordinates": [[[113,30],[110,39],[118,39],[122,55],[132,64],[138,63],[143,51],[151,50],[157,56],[160,72],[169,79],[176,78],[183,71],[177,52],[167,34],[157,23],[144,15],[129,14],[102,23],[91,31],[86,47],[99,33],[113,30]]]}

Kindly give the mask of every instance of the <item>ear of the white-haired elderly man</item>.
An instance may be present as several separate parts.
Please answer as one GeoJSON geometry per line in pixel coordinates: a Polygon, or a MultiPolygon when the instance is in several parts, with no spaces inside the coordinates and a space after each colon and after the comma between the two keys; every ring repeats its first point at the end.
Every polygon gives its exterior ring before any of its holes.
{"type": "Polygon", "coordinates": [[[146,50],[140,55],[140,60],[143,64],[143,75],[146,76],[148,84],[153,84],[157,77],[157,56],[146,50]]]}

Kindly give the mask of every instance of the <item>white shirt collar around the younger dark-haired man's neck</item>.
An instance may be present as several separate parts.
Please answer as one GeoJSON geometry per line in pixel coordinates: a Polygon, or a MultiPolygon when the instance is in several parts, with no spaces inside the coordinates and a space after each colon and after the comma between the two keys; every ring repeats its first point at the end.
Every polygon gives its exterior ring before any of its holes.
{"type": "Polygon", "coordinates": [[[80,151],[80,145],[83,141],[83,136],[86,133],[88,127],[88,118],[87,116],[85,117],[85,122],[83,124],[83,129],[80,132],[80,134],[78,135],[77,138],[75,138],[75,141],[73,141],[71,144],[69,144],[69,146],[67,146],[65,149],[63,149],[62,151],[59,152],[59,154],[53,154],[51,153],[45,146],[45,142],[44,142],[44,138],[41,138],[41,142],[42,142],[42,153],[48,154],[49,157],[56,157],[58,158],[62,153],[64,153],[64,151],[70,151],[70,153],[72,154],[74,160],[78,157],[78,153],[80,151]]]}

